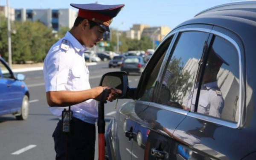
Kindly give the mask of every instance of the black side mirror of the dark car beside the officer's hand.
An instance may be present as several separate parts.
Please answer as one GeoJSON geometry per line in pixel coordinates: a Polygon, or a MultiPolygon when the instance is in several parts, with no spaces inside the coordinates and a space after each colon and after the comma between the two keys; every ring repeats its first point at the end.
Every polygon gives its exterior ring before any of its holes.
{"type": "Polygon", "coordinates": [[[109,72],[102,76],[102,79],[99,83],[99,86],[102,87],[111,87],[122,90],[122,95],[118,98],[125,98],[127,90],[129,89],[128,85],[128,76],[126,72],[109,72]]]}

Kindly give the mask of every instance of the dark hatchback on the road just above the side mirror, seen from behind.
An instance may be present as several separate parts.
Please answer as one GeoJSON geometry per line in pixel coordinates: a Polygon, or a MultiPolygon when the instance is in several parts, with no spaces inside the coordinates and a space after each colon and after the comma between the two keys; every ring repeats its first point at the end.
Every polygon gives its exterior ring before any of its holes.
{"type": "Polygon", "coordinates": [[[145,67],[144,59],[140,56],[127,56],[121,65],[121,71],[130,73],[142,73],[145,67]]]}

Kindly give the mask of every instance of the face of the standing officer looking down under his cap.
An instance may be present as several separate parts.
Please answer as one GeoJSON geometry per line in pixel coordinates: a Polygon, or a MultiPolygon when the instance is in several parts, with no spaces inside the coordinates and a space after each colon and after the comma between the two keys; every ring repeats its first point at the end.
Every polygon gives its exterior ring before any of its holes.
{"type": "Polygon", "coordinates": [[[81,34],[81,41],[87,48],[91,48],[102,41],[104,32],[105,30],[98,25],[90,29],[90,24],[87,23],[81,34]]]}

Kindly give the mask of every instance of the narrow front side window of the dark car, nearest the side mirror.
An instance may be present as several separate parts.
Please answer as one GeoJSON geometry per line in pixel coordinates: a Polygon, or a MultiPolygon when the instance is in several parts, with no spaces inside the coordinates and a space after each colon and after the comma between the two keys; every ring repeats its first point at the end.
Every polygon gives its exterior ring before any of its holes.
{"type": "Polygon", "coordinates": [[[167,49],[172,41],[172,38],[169,38],[163,43],[156,51],[156,54],[154,56],[154,61],[150,61],[148,63],[148,66],[154,66],[151,70],[150,76],[143,82],[145,87],[142,91],[142,96],[140,100],[150,102],[152,100],[152,95],[154,92],[154,88],[157,84],[157,76],[160,73],[160,67],[163,64],[163,59],[167,53],[167,49]]]}

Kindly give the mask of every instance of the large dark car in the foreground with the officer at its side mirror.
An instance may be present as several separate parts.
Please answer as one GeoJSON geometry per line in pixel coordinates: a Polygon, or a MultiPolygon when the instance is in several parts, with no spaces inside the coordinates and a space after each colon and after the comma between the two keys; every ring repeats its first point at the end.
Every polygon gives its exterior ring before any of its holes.
{"type": "Polygon", "coordinates": [[[125,73],[106,73],[102,81],[112,81],[105,85],[131,99],[108,125],[106,158],[254,160],[254,35],[255,1],[216,6],[166,35],[136,88],[125,73]],[[140,127],[150,130],[145,147],[137,142],[140,127]]]}

